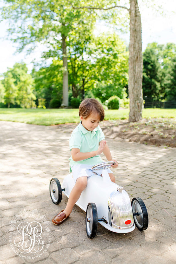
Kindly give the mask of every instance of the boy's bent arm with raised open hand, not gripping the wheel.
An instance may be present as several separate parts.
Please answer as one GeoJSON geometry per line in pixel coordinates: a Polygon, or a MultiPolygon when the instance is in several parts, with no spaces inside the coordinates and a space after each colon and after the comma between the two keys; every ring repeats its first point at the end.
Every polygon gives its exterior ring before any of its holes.
{"type": "Polygon", "coordinates": [[[71,150],[72,159],[74,161],[80,161],[80,160],[86,160],[86,159],[92,158],[94,156],[101,154],[105,146],[106,146],[106,141],[102,140],[99,145],[99,148],[96,151],[80,152],[79,148],[72,148],[71,150]]]}

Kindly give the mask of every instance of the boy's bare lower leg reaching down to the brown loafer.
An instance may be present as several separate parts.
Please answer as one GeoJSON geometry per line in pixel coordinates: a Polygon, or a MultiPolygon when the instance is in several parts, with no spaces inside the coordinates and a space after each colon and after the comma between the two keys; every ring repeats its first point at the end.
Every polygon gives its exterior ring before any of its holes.
{"type": "Polygon", "coordinates": [[[66,214],[66,216],[69,216],[75,203],[77,202],[77,200],[79,199],[82,191],[86,188],[87,186],[87,177],[83,176],[83,177],[79,177],[76,180],[75,186],[73,187],[72,191],[70,192],[70,196],[67,202],[67,206],[64,209],[64,213],[66,214]]]}

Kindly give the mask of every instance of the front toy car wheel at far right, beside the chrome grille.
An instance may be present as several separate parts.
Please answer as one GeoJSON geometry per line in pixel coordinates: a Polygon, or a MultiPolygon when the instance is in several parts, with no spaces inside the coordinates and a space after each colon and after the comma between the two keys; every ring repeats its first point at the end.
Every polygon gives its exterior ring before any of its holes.
{"type": "Polygon", "coordinates": [[[133,198],[131,201],[131,207],[133,214],[139,213],[139,216],[133,216],[134,223],[139,231],[143,231],[148,228],[148,212],[147,208],[141,198],[133,198]]]}

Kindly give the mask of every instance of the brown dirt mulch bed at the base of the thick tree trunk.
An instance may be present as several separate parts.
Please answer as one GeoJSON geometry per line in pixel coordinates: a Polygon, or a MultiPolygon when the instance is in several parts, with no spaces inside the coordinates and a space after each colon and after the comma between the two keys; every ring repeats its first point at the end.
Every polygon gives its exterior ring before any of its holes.
{"type": "Polygon", "coordinates": [[[142,119],[103,121],[101,128],[109,138],[122,138],[148,145],[176,147],[176,119],[142,119]]]}

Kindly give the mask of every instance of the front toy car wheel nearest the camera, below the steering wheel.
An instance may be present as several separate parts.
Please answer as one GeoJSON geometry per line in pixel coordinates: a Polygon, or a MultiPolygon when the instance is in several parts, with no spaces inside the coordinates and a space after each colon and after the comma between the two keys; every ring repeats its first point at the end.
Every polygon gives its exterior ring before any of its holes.
{"type": "Polygon", "coordinates": [[[94,238],[96,236],[97,225],[98,225],[97,206],[95,203],[89,203],[86,209],[86,233],[88,238],[94,238]],[[88,218],[90,218],[90,222],[87,221],[88,218]]]}

